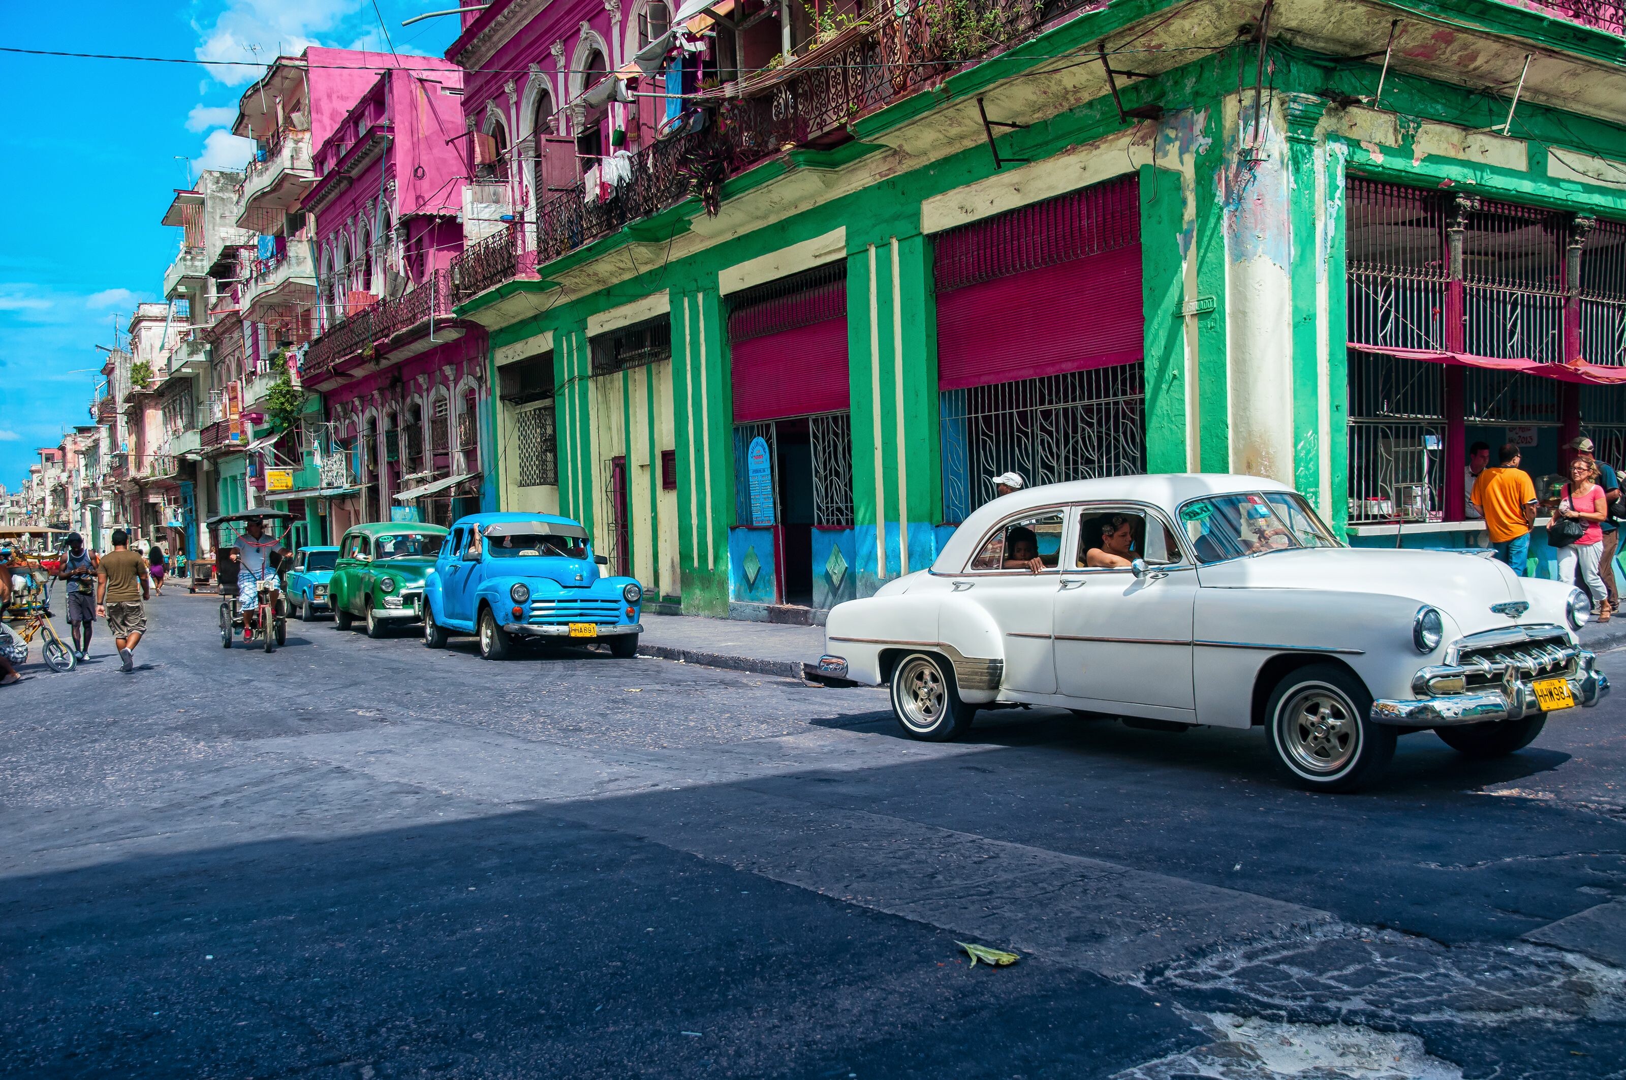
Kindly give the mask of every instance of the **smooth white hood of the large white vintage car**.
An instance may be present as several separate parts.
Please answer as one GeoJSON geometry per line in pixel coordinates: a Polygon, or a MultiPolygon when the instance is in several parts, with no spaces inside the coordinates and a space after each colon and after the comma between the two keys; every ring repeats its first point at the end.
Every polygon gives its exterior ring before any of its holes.
{"type": "Polygon", "coordinates": [[[1317,589],[1408,597],[1446,612],[1467,634],[1507,626],[1507,616],[1493,612],[1493,603],[1532,600],[1507,564],[1457,551],[1270,551],[1203,566],[1198,577],[1205,589],[1317,589]]]}

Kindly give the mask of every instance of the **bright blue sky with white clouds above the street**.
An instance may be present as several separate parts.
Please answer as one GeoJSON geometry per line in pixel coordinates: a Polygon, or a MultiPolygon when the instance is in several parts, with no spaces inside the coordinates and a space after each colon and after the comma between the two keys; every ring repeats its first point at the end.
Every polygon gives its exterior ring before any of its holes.
{"type": "MultiPolygon", "coordinates": [[[[460,7],[377,0],[398,52],[439,55],[460,7]]],[[[0,7],[0,44],[20,49],[207,60],[296,54],[307,44],[382,49],[372,0],[86,0],[0,7]],[[255,55],[254,47],[259,47],[255,55]]],[[[88,405],[114,322],[161,299],[180,231],[158,223],[202,168],[241,168],[226,127],[259,73],[0,54],[13,109],[0,122],[0,485],[16,491],[36,449],[55,446],[88,405]],[[190,171],[190,172],[189,172],[190,171]]]]}

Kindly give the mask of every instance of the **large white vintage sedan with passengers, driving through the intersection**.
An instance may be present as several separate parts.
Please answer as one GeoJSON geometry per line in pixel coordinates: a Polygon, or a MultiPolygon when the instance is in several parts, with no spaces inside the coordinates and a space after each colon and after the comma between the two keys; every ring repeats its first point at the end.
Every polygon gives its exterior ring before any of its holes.
{"type": "Polygon", "coordinates": [[[1273,480],[1117,477],[982,506],[932,569],[831,610],[818,668],[889,683],[914,738],[1013,704],[1263,725],[1293,777],[1350,790],[1400,734],[1506,755],[1597,704],[1587,615],[1475,553],[1343,547],[1273,480]]]}

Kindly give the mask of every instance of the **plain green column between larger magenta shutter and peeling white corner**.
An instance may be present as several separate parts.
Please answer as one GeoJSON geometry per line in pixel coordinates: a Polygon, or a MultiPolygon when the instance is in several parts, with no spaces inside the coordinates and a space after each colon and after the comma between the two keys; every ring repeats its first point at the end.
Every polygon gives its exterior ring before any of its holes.
{"type": "Polygon", "coordinates": [[[1146,472],[1185,472],[1185,192],[1182,174],[1140,168],[1140,281],[1145,314],[1146,472]]]}

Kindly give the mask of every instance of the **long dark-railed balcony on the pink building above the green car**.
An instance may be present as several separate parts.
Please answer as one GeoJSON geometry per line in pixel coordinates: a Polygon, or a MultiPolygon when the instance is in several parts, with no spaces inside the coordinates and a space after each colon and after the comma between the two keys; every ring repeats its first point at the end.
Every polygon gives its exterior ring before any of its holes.
{"type": "Polygon", "coordinates": [[[465,327],[452,317],[452,278],[439,270],[395,299],[379,301],[333,324],[311,345],[299,377],[311,389],[328,390],[363,359],[374,364],[406,359],[463,333],[465,327]],[[436,320],[444,322],[429,333],[436,320]]]}

